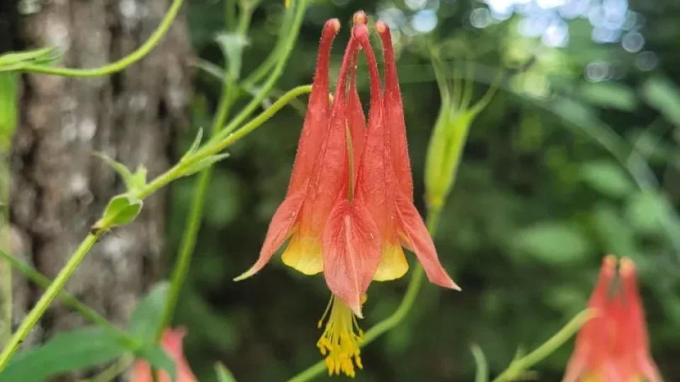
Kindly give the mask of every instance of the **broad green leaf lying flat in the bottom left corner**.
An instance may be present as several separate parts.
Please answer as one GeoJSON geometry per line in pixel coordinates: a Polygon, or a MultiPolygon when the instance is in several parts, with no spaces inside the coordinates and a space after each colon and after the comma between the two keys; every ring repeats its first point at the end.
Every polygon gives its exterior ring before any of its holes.
{"type": "Polygon", "coordinates": [[[129,349],[101,328],[61,332],[45,345],[17,354],[0,373],[0,382],[40,382],[67,371],[101,365],[129,349]]]}

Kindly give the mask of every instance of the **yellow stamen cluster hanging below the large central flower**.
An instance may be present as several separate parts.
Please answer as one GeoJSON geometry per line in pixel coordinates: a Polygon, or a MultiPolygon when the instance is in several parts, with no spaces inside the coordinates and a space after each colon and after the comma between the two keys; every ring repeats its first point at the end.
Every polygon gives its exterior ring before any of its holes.
{"type": "Polygon", "coordinates": [[[331,296],[324,316],[319,320],[319,328],[322,327],[324,319],[330,316],[326,323],[324,333],[317,342],[317,347],[322,355],[326,356],[326,366],[328,375],[339,375],[342,371],[347,376],[354,378],[354,364],[359,369],[363,369],[359,345],[363,342],[363,331],[359,329],[356,316],[342,301],[331,296]]]}

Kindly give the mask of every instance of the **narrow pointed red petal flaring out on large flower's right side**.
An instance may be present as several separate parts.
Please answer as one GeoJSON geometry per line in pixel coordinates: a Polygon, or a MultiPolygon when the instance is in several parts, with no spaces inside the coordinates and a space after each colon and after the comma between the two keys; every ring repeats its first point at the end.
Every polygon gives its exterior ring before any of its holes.
{"type": "Polygon", "coordinates": [[[401,192],[397,192],[396,202],[399,230],[404,233],[418,261],[423,265],[427,279],[440,287],[460,291],[460,287],[453,282],[441,266],[430,233],[416,207],[401,192]]]}

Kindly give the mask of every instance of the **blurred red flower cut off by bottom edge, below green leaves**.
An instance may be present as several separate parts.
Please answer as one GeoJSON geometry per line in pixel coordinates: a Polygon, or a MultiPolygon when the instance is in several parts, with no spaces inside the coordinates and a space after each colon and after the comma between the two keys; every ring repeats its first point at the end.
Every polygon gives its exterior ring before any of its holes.
{"type": "MultiPolygon", "coordinates": [[[[175,330],[166,329],[161,338],[161,346],[175,362],[177,382],[198,382],[198,378],[193,375],[182,350],[182,339],[185,334],[186,329],[184,328],[177,328],[175,330]]],[[[151,366],[145,361],[135,362],[135,366],[132,369],[132,382],[151,381],[151,366]]],[[[170,382],[170,377],[165,371],[159,373],[159,382],[170,382]]]]}

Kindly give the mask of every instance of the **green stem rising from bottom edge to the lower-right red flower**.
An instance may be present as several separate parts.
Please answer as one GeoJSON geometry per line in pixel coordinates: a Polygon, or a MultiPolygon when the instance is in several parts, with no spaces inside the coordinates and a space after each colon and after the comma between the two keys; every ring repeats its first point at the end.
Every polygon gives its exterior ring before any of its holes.
{"type": "Polygon", "coordinates": [[[594,317],[594,312],[591,310],[584,310],[577,314],[572,320],[560,329],[559,332],[555,333],[553,337],[550,337],[548,341],[545,341],[543,345],[540,345],[533,352],[526,354],[526,356],[511,362],[508,369],[502,372],[496,379],[492,382],[504,382],[504,381],[515,381],[524,371],[527,371],[531,366],[538,364],[541,360],[548,355],[553,354],[558,347],[562,346],[576,333],[584,323],[594,317]]]}

